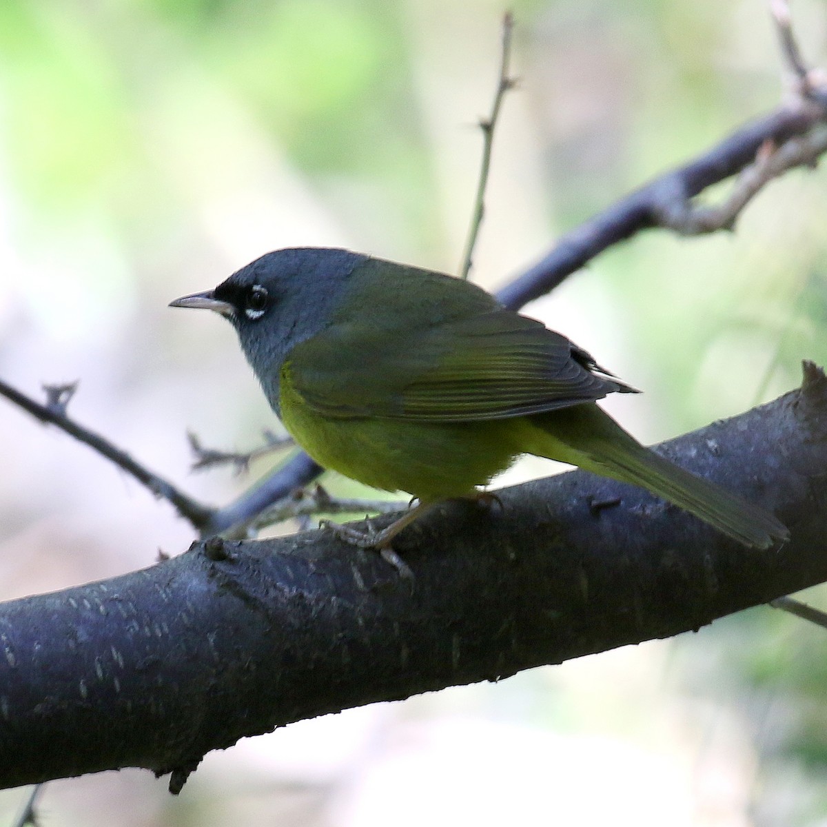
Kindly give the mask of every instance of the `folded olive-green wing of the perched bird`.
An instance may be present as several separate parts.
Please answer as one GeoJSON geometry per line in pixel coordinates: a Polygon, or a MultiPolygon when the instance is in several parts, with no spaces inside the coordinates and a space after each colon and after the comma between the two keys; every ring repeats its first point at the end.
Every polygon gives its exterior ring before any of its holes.
{"type": "Polygon", "coordinates": [[[432,422],[500,419],[631,391],[586,351],[495,306],[396,328],[339,321],[290,353],[293,390],[318,413],[432,422]]]}

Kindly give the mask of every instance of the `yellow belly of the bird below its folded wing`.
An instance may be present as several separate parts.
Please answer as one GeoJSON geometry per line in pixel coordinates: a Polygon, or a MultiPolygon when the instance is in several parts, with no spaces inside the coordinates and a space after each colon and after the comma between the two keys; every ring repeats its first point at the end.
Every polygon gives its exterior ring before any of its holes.
{"type": "Polygon", "coordinates": [[[423,423],[324,417],[284,381],[280,402],[284,427],[319,465],[425,502],[471,494],[520,453],[514,419],[423,423]]]}

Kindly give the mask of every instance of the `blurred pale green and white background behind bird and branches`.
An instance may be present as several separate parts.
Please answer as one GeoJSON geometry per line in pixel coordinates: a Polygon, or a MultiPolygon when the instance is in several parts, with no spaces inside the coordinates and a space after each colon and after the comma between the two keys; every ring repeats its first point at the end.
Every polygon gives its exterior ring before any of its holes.
{"type": "MultiPolygon", "coordinates": [[[[762,0],[512,7],[520,83],[473,274],[490,288],[782,95],[762,0]]],[[[192,475],[185,431],[252,447],[273,417],[230,327],[167,302],[280,246],[457,270],[503,11],[3,0],[2,378],[31,394],[79,379],[81,422],[193,495],[231,499],[266,464],[247,480],[192,475]]],[[[827,62],[825,4],[796,0],[793,16],[805,55],[827,62]]],[[[609,403],[627,427],[669,437],[789,390],[802,358],[827,361],[825,213],[825,174],[796,171],[734,234],[649,232],[528,312],[647,391],[609,403]]],[[[193,539],[168,505],[4,400],[0,457],[2,599],[193,539]]],[[[209,755],[179,798],[136,770],[55,782],[41,823],[827,825],[825,709],[827,633],[754,609],[248,739],[209,755]]],[[[24,793],[0,793],[0,822],[24,793]]]]}

